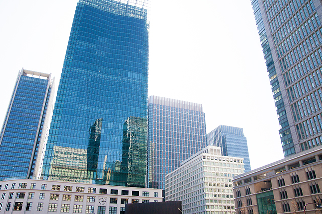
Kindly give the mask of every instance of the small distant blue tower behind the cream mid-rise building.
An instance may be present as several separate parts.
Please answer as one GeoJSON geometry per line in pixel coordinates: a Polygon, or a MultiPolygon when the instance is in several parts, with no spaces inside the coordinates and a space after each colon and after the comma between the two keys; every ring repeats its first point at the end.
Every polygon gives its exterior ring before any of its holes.
{"type": "Polygon", "coordinates": [[[251,171],[247,140],[242,128],[220,125],[207,134],[207,143],[220,147],[224,156],[243,157],[245,172],[251,171]]]}

